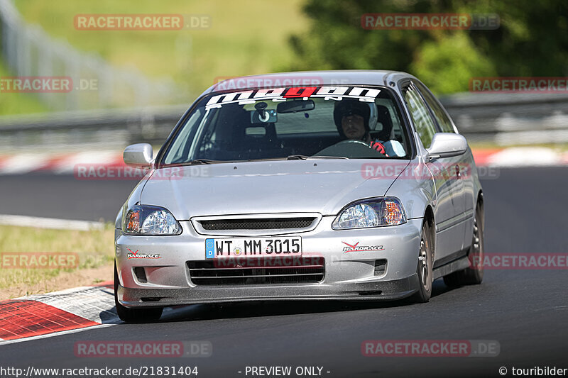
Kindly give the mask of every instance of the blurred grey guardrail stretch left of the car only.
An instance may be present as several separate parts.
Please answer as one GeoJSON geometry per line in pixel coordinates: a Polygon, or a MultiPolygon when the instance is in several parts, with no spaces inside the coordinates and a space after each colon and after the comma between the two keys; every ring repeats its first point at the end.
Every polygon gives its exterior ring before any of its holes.
{"type": "Polygon", "coordinates": [[[114,150],[131,143],[161,145],[186,110],[182,105],[4,116],[0,117],[0,154],[114,150]]]}

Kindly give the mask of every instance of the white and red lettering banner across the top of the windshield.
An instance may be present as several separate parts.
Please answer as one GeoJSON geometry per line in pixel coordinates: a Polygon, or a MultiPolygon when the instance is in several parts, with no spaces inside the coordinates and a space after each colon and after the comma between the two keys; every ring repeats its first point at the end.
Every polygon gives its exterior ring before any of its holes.
{"type": "Polygon", "coordinates": [[[213,96],[205,109],[220,108],[226,104],[237,103],[239,105],[254,104],[258,100],[272,100],[274,102],[286,101],[286,99],[309,99],[323,98],[325,101],[342,101],[342,99],[359,99],[364,102],[375,102],[380,89],[366,87],[290,87],[249,89],[213,96]]]}

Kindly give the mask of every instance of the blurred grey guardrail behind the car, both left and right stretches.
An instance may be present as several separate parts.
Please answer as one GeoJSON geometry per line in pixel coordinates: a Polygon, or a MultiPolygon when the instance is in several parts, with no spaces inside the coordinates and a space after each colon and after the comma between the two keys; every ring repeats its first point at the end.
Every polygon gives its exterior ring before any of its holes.
{"type": "MultiPolygon", "coordinates": [[[[455,94],[442,98],[470,143],[568,143],[568,95],[455,94]]],[[[160,145],[187,105],[0,117],[0,153],[160,145]]]]}

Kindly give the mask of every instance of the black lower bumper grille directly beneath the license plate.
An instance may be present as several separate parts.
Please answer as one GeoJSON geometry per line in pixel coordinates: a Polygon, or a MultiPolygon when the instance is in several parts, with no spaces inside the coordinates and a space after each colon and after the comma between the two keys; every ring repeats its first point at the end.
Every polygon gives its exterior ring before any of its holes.
{"type": "Polygon", "coordinates": [[[195,285],[307,284],[324,279],[323,257],[246,257],[188,261],[195,285]]]}

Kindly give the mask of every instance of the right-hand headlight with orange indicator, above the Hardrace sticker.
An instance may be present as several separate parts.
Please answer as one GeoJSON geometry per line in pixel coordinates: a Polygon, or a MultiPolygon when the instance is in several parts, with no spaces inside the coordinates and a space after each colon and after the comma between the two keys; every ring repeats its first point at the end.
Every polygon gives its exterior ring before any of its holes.
{"type": "Polygon", "coordinates": [[[400,200],[379,197],[356,201],[343,209],[332,223],[334,230],[396,226],[406,223],[406,214],[400,200]]]}

